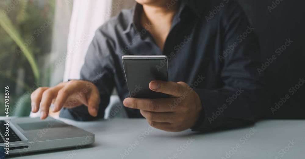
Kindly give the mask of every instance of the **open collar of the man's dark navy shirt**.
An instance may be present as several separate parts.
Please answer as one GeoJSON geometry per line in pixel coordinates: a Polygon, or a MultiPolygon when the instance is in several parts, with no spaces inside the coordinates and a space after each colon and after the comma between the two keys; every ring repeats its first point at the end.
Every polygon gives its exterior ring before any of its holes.
{"type": "MultiPolygon", "coordinates": [[[[180,17],[182,11],[185,9],[186,6],[190,8],[190,10],[198,17],[201,17],[201,13],[203,11],[203,3],[205,2],[204,0],[179,0],[180,1],[180,6],[178,9],[178,12],[176,13],[180,17]]],[[[140,5],[139,3],[135,2],[135,5],[133,6],[131,10],[131,17],[129,19],[129,23],[127,28],[123,31],[123,34],[128,33],[131,31],[131,28],[134,27],[136,29],[140,28],[140,16],[143,11],[143,6],[140,5]]]]}

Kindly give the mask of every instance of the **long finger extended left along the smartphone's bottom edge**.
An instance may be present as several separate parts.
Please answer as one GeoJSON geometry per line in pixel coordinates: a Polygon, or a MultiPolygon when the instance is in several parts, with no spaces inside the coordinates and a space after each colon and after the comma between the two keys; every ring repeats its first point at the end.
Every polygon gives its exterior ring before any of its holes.
{"type": "Polygon", "coordinates": [[[139,110],[147,110],[153,112],[173,112],[170,109],[170,104],[173,104],[174,98],[125,98],[123,101],[124,106],[139,110]]]}

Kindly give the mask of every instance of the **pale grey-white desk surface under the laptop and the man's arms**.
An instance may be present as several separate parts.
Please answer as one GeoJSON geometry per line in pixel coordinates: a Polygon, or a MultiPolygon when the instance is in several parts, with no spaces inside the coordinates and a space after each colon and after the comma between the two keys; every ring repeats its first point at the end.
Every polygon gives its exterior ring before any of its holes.
{"type": "MultiPolygon", "coordinates": [[[[304,120],[260,121],[251,127],[207,134],[198,134],[190,130],[182,132],[152,130],[145,119],[92,122],[60,120],[94,133],[95,143],[81,149],[44,151],[27,154],[21,158],[305,158],[304,120]]],[[[20,158],[20,156],[7,158],[20,158]]]]}

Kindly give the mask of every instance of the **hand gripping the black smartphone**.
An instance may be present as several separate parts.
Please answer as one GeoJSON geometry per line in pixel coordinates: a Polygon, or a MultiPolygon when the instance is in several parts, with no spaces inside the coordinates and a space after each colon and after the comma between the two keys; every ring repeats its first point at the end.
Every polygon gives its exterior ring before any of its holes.
{"type": "Polygon", "coordinates": [[[126,98],[124,106],[139,109],[149,125],[170,132],[193,127],[202,110],[201,100],[185,82],[151,81],[149,88],[170,98],[126,98]],[[178,105],[177,105],[178,103],[178,105]]]}

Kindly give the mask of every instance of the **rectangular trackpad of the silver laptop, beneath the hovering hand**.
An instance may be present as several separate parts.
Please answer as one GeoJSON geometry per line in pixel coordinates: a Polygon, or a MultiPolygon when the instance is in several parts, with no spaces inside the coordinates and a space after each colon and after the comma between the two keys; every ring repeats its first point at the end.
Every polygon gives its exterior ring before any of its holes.
{"type": "Polygon", "coordinates": [[[41,122],[31,122],[31,123],[20,123],[18,124],[20,128],[24,131],[28,130],[37,130],[37,129],[44,129],[44,128],[59,128],[59,127],[67,127],[69,125],[59,123],[55,120],[52,121],[41,121],[41,122]]]}

